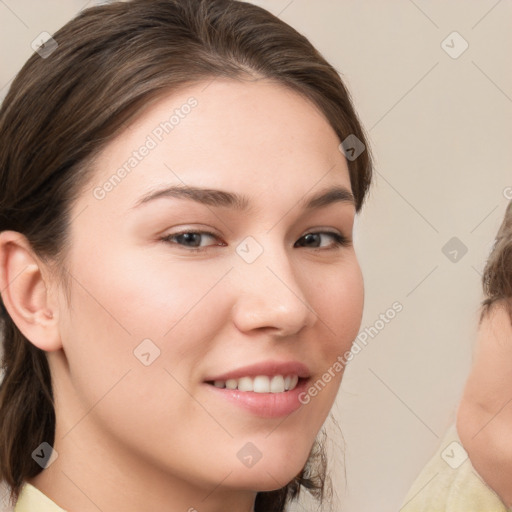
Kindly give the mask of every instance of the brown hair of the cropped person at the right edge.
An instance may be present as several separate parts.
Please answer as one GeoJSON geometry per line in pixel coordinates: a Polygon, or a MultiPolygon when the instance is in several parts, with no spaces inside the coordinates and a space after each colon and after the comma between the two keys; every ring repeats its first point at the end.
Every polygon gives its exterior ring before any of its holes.
{"type": "Polygon", "coordinates": [[[482,276],[486,298],[480,321],[496,306],[505,307],[512,323],[512,201],[494,240],[482,276]]]}

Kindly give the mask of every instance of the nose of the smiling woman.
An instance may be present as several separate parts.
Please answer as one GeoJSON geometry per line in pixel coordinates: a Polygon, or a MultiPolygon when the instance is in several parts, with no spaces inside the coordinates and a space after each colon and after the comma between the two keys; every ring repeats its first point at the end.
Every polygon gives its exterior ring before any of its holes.
{"type": "MultiPolygon", "coordinates": [[[[278,245],[275,243],[274,245],[278,245]]],[[[317,321],[307,301],[307,289],[313,286],[299,276],[289,251],[284,247],[263,247],[252,263],[240,258],[231,272],[235,304],[232,316],[240,331],[265,330],[285,337],[296,335],[317,321]]]]}

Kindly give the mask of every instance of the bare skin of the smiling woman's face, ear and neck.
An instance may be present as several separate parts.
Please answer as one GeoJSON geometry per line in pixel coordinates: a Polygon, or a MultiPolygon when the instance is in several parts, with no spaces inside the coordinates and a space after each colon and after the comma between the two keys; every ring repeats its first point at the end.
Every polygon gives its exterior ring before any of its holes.
{"type": "Polygon", "coordinates": [[[203,380],[293,359],[314,382],[361,324],[354,204],[299,205],[332,186],[351,190],[332,127],[274,82],[206,85],[159,99],[98,155],[71,212],[69,304],[24,238],[0,235],[2,297],[47,351],[54,382],[59,456],[31,483],[70,511],[251,511],[256,491],[280,488],[302,469],[342,372],[285,418],[213,397],[203,380]],[[95,187],[191,96],[191,113],[96,199],[95,187]],[[183,184],[243,194],[250,210],[165,197],[133,208],[152,190],[183,184]],[[190,229],[214,232],[203,235],[203,252],[161,239],[190,229]],[[349,244],[322,234],[297,245],[326,231],[349,244]],[[235,250],[248,236],[263,248],[251,264],[235,250]],[[147,338],[161,352],[144,366],[133,351],[147,338]],[[237,457],[247,442],[262,454],[250,468],[237,457]]]}

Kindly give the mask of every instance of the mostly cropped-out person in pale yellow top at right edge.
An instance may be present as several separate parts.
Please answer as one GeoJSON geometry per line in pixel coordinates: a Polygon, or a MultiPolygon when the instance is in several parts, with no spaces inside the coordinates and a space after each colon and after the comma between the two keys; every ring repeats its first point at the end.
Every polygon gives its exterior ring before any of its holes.
{"type": "Polygon", "coordinates": [[[409,491],[402,512],[512,509],[512,202],[483,274],[472,369],[457,421],[409,491]]]}

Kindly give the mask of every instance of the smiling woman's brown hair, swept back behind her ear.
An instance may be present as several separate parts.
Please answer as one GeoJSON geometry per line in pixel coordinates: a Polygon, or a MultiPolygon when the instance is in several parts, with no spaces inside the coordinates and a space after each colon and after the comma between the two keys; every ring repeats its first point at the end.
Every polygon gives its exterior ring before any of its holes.
{"type": "MultiPolygon", "coordinates": [[[[58,46],[28,59],[0,109],[0,231],[25,235],[43,261],[64,261],[69,209],[94,156],[150,101],[215,77],[275,80],[310,99],[340,141],[357,137],[366,150],[347,160],[361,209],[371,156],[349,93],[311,43],[268,11],[235,0],[114,2],[53,37],[58,46]]],[[[0,479],[14,501],[41,471],[31,453],[53,444],[55,412],[46,353],[1,306],[0,479]]],[[[284,510],[301,487],[322,498],[325,463],[315,450],[286,487],[258,493],[256,512],[284,510]]]]}

